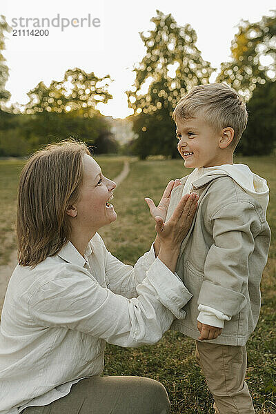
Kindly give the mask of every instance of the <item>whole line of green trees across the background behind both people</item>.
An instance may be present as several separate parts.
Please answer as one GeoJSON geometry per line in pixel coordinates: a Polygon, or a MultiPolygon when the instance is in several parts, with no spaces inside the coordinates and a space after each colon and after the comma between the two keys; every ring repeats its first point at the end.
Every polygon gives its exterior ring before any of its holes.
{"type": "MultiPolygon", "coordinates": [[[[155,28],[140,33],[146,54],[135,66],[135,83],[126,92],[135,111],[130,119],[136,138],[125,144],[123,151],[140,159],[148,155],[175,158],[172,111],[190,88],[208,83],[213,68],[202,59],[197,35],[189,24],[178,26],[171,14],[159,10],[151,21],[155,28]],[[146,86],[148,91],[144,92],[146,86]]],[[[4,89],[8,68],[1,55],[8,30],[0,16],[0,106],[10,96],[4,89]]],[[[232,59],[221,63],[217,77],[217,82],[226,81],[247,100],[253,94],[248,101],[248,127],[237,148],[242,155],[255,155],[256,151],[270,154],[275,148],[275,35],[275,11],[257,23],[242,21],[232,42],[232,59]],[[264,63],[264,57],[270,57],[269,64],[264,63]]],[[[67,70],[61,81],[53,80],[49,87],[41,81],[28,92],[30,101],[24,115],[0,110],[0,156],[28,155],[43,144],[69,136],[86,141],[95,153],[118,152],[108,119],[96,109],[98,102],[112,98],[109,82],[109,75],[98,78],[94,72],[79,68],[67,70]]]]}

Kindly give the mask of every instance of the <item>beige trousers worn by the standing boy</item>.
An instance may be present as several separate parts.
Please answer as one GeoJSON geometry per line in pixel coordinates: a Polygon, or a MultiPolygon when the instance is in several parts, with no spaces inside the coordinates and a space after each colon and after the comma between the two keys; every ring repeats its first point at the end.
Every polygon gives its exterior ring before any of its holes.
{"type": "Polygon", "coordinates": [[[215,399],[217,414],[253,414],[246,375],[246,347],[196,341],[196,357],[215,399]]]}

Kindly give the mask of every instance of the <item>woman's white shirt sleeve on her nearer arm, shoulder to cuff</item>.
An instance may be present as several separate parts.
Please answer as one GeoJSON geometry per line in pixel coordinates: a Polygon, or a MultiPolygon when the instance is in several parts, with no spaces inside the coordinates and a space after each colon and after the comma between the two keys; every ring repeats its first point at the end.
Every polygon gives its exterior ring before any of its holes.
{"type": "Polygon", "coordinates": [[[28,311],[42,326],[80,331],[119,346],[140,346],[157,342],[175,317],[183,319],[181,308],[192,296],[159,259],[137,284],[137,295],[117,295],[100,286],[88,270],[66,263],[30,297],[28,311]]]}

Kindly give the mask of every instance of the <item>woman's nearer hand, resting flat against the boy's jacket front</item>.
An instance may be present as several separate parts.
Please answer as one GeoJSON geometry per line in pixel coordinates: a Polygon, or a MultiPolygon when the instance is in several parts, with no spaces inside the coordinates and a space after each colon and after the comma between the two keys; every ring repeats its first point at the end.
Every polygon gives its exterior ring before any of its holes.
{"type": "Polygon", "coordinates": [[[168,221],[164,222],[162,217],[155,217],[155,230],[161,241],[158,257],[172,272],[175,272],[181,242],[192,224],[198,199],[195,193],[186,194],[168,221]]]}

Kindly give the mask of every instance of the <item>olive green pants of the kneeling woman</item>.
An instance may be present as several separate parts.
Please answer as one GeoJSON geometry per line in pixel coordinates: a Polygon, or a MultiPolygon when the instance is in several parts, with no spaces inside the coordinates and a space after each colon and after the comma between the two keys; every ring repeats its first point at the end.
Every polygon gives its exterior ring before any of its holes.
{"type": "Polygon", "coordinates": [[[145,377],[89,377],[68,395],[22,414],[168,414],[170,402],[160,382],[145,377]]]}

